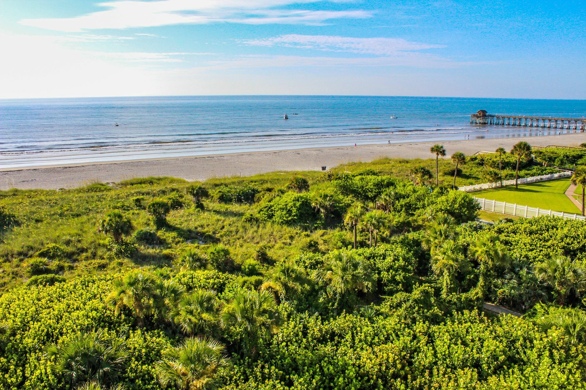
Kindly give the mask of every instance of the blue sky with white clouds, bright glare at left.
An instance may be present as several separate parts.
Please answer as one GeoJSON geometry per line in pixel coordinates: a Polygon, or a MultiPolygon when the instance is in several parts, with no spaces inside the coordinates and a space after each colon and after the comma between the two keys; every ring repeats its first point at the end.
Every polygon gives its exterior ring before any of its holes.
{"type": "Polygon", "coordinates": [[[0,1],[0,98],[586,98],[578,1],[0,1]]]}

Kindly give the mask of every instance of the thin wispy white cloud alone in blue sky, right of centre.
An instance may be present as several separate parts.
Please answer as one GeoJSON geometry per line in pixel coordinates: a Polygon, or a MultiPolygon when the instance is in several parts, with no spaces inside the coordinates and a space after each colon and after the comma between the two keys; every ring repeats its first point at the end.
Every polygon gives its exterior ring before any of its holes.
{"type": "Polygon", "coordinates": [[[427,43],[409,42],[400,38],[353,38],[329,35],[281,35],[277,37],[244,40],[243,43],[255,46],[287,46],[304,49],[318,49],[334,52],[352,52],[376,54],[378,56],[396,56],[401,52],[435,49],[443,47],[427,43]]]}

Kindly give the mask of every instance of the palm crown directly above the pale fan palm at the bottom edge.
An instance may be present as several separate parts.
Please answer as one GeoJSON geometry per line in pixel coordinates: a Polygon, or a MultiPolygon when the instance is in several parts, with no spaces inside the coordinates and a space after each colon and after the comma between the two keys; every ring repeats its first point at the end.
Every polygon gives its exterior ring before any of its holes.
{"type": "Polygon", "coordinates": [[[195,289],[169,310],[168,318],[184,334],[217,336],[220,324],[218,305],[214,290],[195,289]]]}

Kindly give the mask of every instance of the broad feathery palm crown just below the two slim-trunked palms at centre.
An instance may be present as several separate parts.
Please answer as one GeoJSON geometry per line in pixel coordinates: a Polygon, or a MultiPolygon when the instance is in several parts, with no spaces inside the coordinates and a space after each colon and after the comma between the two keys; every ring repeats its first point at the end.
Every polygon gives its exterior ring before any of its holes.
{"type": "Polygon", "coordinates": [[[326,285],[329,296],[341,296],[354,291],[369,292],[374,279],[369,264],[355,252],[333,252],[314,273],[316,282],[326,285]]]}

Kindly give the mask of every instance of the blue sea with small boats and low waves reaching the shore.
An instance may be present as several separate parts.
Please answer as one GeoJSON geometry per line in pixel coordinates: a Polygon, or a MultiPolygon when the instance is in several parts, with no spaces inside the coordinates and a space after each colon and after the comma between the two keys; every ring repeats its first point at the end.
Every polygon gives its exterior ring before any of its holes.
{"type": "Polygon", "coordinates": [[[357,96],[0,100],[0,168],[555,132],[469,125],[469,115],[481,109],[581,118],[586,101],[357,96]]]}

